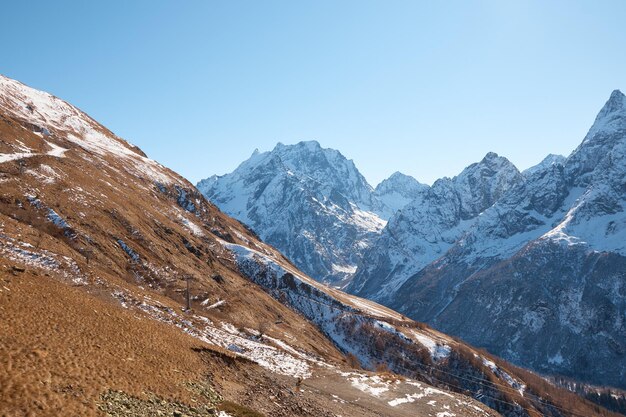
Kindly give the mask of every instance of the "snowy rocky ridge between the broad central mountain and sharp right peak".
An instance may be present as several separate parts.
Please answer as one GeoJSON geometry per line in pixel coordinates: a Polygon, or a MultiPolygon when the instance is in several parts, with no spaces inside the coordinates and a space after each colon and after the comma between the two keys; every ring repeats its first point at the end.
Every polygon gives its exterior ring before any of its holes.
{"type": "Polygon", "coordinates": [[[349,291],[390,302],[410,276],[445,254],[480,213],[523,181],[511,162],[488,153],[458,176],[422,189],[366,251],[349,291]]]}

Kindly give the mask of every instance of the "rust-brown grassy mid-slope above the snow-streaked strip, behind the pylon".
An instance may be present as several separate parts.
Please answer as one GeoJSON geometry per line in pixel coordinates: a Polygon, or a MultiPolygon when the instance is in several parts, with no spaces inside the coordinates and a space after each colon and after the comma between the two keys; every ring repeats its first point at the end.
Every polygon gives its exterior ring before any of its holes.
{"type": "MultiPolygon", "coordinates": [[[[20,121],[0,120],[0,143],[15,145],[16,140],[42,142],[20,127],[20,121]]],[[[69,150],[63,158],[39,155],[0,164],[0,213],[8,217],[9,235],[21,234],[21,241],[75,260],[79,274],[87,280],[140,285],[181,304],[183,278],[190,275],[198,302],[226,300],[220,311],[209,314],[226,314],[237,326],[269,325],[270,334],[276,327],[273,323],[280,321],[281,333],[302,336],[294,341],[297,347],[329,360],[342,360],[314,326],[243,278],[223,256],[217,235],[232,241],[240,241],[237,236],[252,244],[256,241],[241,224],[204,199],[193,200],[197,215],[177,204],[174,185],[191,194],[195,191],[191,184],[163,168],[174,182],[161,192],[154,180],[129,173],[128,161],[90,153],[64,141],[62,133],[47,140],[69,150]],[[52,181],[42,180],[42,174],[52,181]],[[27,196],[36,196],[42,208],[29,203],[27,196]],[[51,225],[46,218],[48,209],[69,223],[71,238],[51,225]],[[181,217],[201,228],[203,236],[191,233],[181,217]],[[131,247],[140,261],[130,259],[118,239],[131,247]],[[222,279],[213,279],[216,275],[222,279]]],[[[196,307],[201,309],[198,302],[196,307]]]]}

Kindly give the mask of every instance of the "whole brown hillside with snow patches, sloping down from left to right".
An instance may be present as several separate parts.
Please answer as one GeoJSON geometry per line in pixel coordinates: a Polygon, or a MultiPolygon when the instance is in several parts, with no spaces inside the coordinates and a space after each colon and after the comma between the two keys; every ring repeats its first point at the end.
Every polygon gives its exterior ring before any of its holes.
{"type": "Polygon", "coordinates": [[[5,77],[0,186],[2,415],[610,415],[312,280],[176,173],[5,77]]]}

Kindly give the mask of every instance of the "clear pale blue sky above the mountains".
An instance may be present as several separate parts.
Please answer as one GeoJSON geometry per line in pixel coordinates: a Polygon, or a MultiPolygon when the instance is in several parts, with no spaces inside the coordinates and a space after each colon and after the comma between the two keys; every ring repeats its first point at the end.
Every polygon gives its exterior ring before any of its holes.
{"type": "Polygon", "coordinates": [[[624,1],[13,1],[0,73],[192,182],[318,140],[377,182],[569,154],[626,89],[624,1]]]}

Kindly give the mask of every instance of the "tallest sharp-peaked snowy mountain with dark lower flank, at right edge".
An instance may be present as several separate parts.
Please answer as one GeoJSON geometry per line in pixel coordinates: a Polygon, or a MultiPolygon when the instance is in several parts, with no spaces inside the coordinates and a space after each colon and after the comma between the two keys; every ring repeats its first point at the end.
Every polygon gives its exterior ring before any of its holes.
{"type": "Polygon", "coordinates": [[[525,366],[624,387],[624,95],[611,94],[568,158],[551,156],[509,178],[469,223],[451,222],[461,225],[456,234],[433,229],[434,220],[424,221],[427,202],[412,202],[421,211],[407,218],[412,212],[402,210],[383,231],[386,241],[370,249],[389,266],[360,269],[354,291],[525,366]],[[396,248],[415,252],[433,240],[440,250],[430,259],[398,255],[396,248]],[[397,267],[407,263],[408,273],[397,267]]]}

